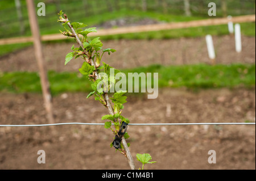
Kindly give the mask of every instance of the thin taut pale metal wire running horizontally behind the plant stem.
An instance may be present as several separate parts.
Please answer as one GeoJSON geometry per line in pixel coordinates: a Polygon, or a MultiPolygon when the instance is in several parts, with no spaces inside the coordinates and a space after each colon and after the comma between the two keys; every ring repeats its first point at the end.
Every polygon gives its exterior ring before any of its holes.
{"type": "MultiPolygon", "coordinates": [[[[0,125],[0,127],[48,127],[55,125],[105,125],[104,123],[56,123],[56,124],[25,124],[25,125],[0,125]]],[[[112,124],[114,125],[114,124],[112,124]]],[[[156,126],[156,125],[255,125],[255,123],[145,123],[145,124],[129,124],[132,126],[156,126]]]]}

